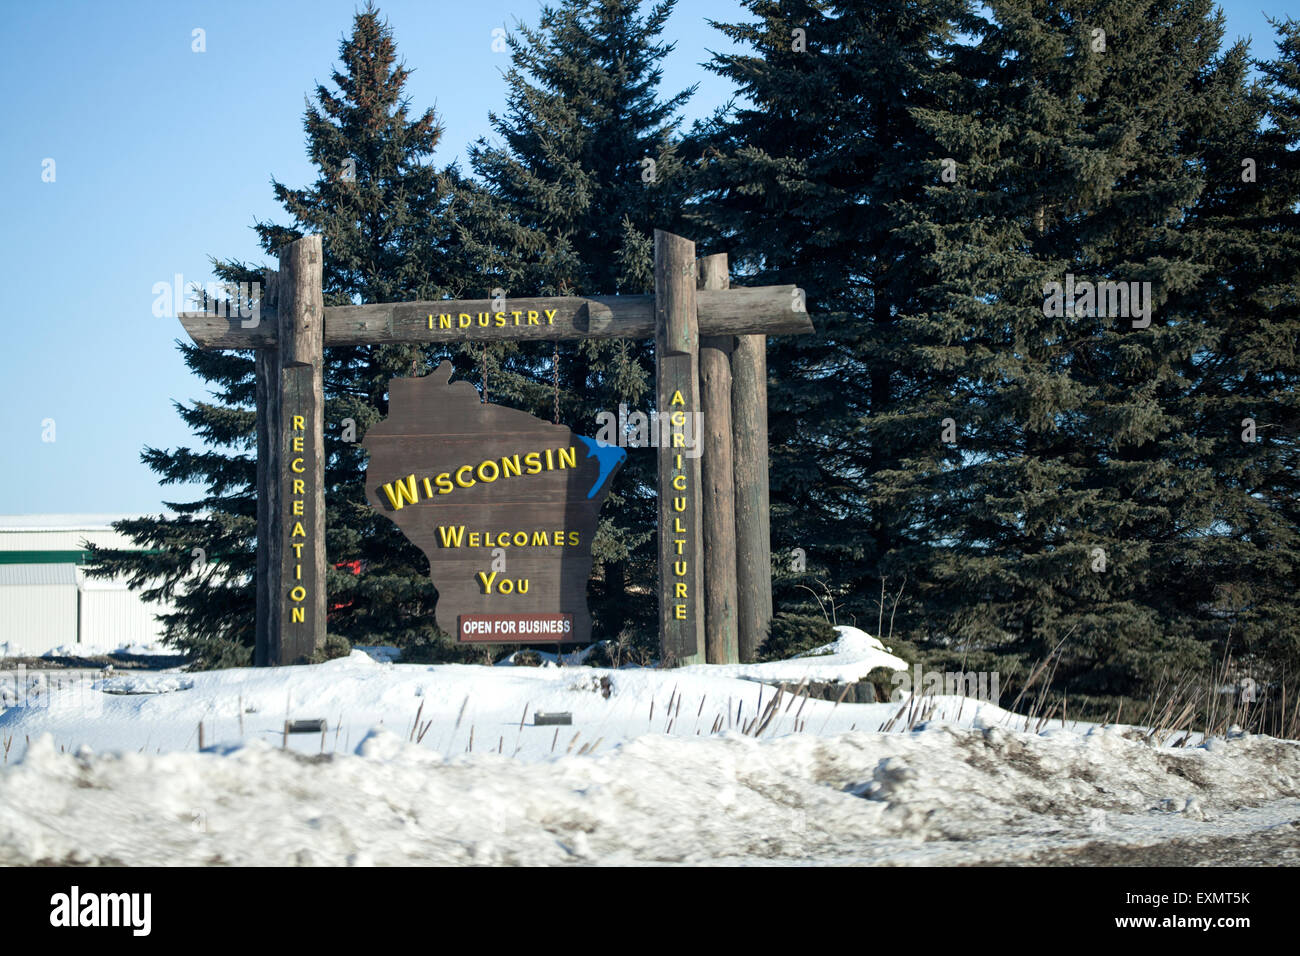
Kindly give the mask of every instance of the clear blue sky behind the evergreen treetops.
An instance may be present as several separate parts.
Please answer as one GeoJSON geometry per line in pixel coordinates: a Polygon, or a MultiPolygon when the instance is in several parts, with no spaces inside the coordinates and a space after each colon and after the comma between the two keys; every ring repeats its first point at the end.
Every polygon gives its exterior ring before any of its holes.
{"type": "MultiPolygon", "coordinates": [[[[172,407],[205,397],[176,351],[174,317],[152,313],[155,282],[212,278],[208,256],[266,261],[255,219],[286,221],[269,181],[315,178],[304,96],[326,82],[352,0],[16,3],[0,29],[0,514],[156,512],[198,489],[160,488],[146,445],[194,444],[172,407]],[[207,52],[191,52],[191,31],[207,52]],[[55,182],[43,182],[46,159],[55,182]],[[55,441],[42,441],[43,421],[55,441]]],[[[1271,0],[1270,13],[1300,13],[1271,0]]],[[[446,131],[438,165],[465,157],[504,103],[491,30],[533,23],[534,0],[389,0],[380,9],[415,68],[412,109],[446,131]]],[[[1257,0],[1226,4],[1228,36],[1271,56],[1257,0]]],[[[729,96],[699,68],[727,48],[706,20],[734,0],[680,0],[664,90],[694,82],[688,120],[729,96]]]]}

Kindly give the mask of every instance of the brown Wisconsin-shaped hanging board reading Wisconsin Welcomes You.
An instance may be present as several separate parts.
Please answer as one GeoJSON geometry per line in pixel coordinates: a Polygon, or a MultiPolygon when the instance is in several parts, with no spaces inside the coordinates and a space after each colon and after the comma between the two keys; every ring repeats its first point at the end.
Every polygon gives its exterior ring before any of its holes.
{"type": "Polygon", "coordinates": [[[394,378],[365,434],[365,496],[429,558],[438,627],[462,641],[588,641],[601,503],[627,458],[469,382],[394,378]]]}

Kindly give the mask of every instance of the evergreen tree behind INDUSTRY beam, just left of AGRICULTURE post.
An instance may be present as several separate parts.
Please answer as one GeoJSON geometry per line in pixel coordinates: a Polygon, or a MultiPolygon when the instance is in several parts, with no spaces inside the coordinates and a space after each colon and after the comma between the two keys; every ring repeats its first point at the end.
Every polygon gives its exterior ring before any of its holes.
{"type": "MultiPolygon", "coordinates": [[[[491,114],[458,204],[481,295],[646,294],[653,232],[677,229],[688,182],[677,156],[677,109],[660,99],[659,39],[673,0],[563,0],[508,38],[507,107],[491,114]]],[[[595,416],[654,401],[650,342],[502,343],[474,347],[489,397],[595,434],[595,416]],[[558,390],[558,398],[556,398],[558,390]]],[[[593,548],[593,635],[623,628],[644,649],[655,636],[655,459],[629,449],[593,548]]]]}

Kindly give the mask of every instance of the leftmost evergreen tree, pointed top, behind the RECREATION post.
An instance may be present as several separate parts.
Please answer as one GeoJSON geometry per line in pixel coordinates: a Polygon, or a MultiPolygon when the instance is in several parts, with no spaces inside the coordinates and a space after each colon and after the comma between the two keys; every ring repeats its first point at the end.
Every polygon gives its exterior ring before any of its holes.
{"type": "MultiPolygon", "coordinates": [[[[410,114],[391,30],[368,5],[341,43],[334,90],[316,88],[304,129],[318,177],[308,189],[273,182],[291,225],[259,222],[268,254],[303,235],[322,237],[326,306],[458,297],[467,287],[465,255],[455,237],[455,169],[429,164],[441,127],[433,111],[410,114]]],[[[259,281],[261,269],[217,261],[228,281],[259,281]]],[[[199,481],[204,498],[169,503],[177,518],[144,518],[118,527],[146,551],[98,549],[94,574],[127,572],[147,598],[173,597],[164,618],[168,640],[205,666],[247,663],[255,632],[252,571],[256,549],[254,359],[182,343],[186,364],[214,388],[213,402],[178,406],[205,446],[146,449],[164,484],[199,481]],[[217,563],[190,575],[191,548],[217,563]]],[[[328,349],[325,389],[325,502],[329,632],[356,643],[410,645],[436,635],[436,592],[428,562],[391,522],[373,514],[363,488],[358,441],[387,412],[387,384],[420,372],[436,346],[328,349]]]]}

